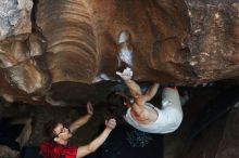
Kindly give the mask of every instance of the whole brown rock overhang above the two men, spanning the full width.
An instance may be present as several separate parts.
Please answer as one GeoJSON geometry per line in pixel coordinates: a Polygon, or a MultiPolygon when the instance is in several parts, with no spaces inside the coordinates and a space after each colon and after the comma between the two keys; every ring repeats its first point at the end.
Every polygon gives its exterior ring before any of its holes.
{"type": "Polygon", "coordinates": [[[9,102],[85,101],[109,92],[99,81],[117,81],[126,66],[137,81],[178,85],[239,76],[237,0],[36,0],[34,12],[28,0],[0,4],[0,93],[9,102]]]}

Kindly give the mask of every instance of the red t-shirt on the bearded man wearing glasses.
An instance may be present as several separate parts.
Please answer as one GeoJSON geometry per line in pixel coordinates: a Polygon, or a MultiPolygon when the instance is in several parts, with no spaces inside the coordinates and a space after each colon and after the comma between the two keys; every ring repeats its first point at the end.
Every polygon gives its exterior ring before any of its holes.
{"type": "Polygon", "coordinates": [[[53,142],[42,142],[40,153],[43,158],[76,158],[77,147],[60,145],[53,142]]]}

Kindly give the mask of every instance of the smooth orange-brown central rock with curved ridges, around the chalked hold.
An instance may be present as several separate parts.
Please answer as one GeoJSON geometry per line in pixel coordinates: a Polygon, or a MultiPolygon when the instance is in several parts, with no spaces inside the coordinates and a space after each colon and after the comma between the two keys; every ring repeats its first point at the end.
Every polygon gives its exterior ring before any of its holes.
{"type": "Polygon", "coordinates": [[[180,44],[189,18],[183,1],[40,1],[37,25],[48,40],[47,51],[53,53],[49,60],[53,82],[91,83],[102,75],[115,79],[123,65],[117,48],[122,30],[131,36],[137,79],[185,80],[180,67],[187,52],[180,44]]]}

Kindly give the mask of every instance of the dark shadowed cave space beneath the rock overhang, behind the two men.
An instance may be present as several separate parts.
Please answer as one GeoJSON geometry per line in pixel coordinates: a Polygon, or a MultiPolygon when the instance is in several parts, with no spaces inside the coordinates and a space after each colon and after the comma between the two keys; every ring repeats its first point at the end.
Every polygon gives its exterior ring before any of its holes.
{"type": "MultiPolygon", "coordinates": [[[[141,83],[142,88],[148,84],[141,83]]],[[[125,122],[120,110],[122,107],[111,107],[103,100],[93,103],[95,114],[90,121],[81,127],[71,139],[74,145],[90,142],[104,126],[104,119],[115,117],[117,127],[95,154],[88,158],[100,157],[152,157],[179,158],[204,155],[209,157],[225,157],[225,153],[235,146],[237,133],[237,113],[239,104],[239,88],[226,82],[213,82],[207,85],[178,87],[180,94],[187,92],[189,100],[184,104],[184,121],[179,129],[169,134],[149,134],[140,132],[125,122]],[[209,141],[210,140],[210,141],[209,141]],[[234,141],[235,140],[235,141],[234,141]]],[[[159,90],[151,103],[161,106],[161,91],[159,90]]],[[[22,150],[22,157],[37,157],[39,143],[45,139],[43,127],[50,118],[58,118],[64,124],[72,122],[86,114],[80,106],[36,106],[24,103],[9,104],[1,101],[0,115],[2,117],[32,118],[32,133],[22,150]]],[[[227,155],[237,153],[227,153],[227,155]]]]}

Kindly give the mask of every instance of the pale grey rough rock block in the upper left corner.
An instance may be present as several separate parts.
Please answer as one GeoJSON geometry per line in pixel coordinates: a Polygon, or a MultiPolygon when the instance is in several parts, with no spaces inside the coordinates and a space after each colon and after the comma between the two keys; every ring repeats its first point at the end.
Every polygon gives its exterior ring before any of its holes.
{"type": "Polygon", "coordinates": [[[0,41],[32,32],[32,0],[0,1],[0,41]]]}

